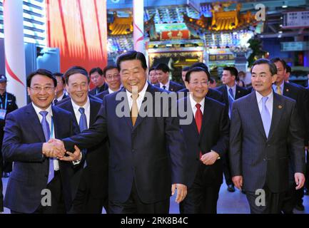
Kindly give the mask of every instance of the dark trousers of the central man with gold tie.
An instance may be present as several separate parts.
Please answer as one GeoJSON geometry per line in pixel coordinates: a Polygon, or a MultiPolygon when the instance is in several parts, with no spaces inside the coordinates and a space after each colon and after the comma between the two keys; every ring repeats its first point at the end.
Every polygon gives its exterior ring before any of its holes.
{"type": "Polygon", "coordinates": [[[126,202],[109,201],[109,213],[111,214],[168,214],[170,199],[164,199],[153,204],[146,204],[138,197],[135,181],[133,180],[130,197],[126,202]]]}

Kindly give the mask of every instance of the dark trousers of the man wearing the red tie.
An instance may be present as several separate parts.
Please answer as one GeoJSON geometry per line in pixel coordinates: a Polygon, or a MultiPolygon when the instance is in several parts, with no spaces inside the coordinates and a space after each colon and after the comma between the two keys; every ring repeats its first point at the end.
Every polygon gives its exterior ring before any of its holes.
{"type": "Polygon", "coordinates": [[[179,205],[181,214],[216,214],[217,202],[221,184],[209,183],[201,164],[196,172],[193,184],[188,187],[188,193],[179,205]]]}

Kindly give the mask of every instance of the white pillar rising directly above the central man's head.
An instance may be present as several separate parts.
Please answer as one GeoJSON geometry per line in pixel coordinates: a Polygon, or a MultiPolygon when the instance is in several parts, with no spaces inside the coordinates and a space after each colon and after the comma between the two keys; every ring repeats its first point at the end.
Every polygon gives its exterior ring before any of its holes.
{"type": "Polygon", "coordinates": [[[143,0],[133,0],[133,41],[135,51],[145,53],[143,38],[143,0]]]}

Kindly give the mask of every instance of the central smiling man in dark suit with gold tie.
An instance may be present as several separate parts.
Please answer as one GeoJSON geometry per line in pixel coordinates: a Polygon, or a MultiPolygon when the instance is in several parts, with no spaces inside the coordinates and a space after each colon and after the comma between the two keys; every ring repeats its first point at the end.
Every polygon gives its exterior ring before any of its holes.
{"type": "Polygon", "coordinates": [[[155,99],[155,93],[167,93],[147,83],[143,53],[123,53],[117,66],[123,88],[104,97],[91,128],[64,139],[64,144],[68,149],[75,144],[87,148],[108,135],[110,213],[168,213],[171,192],[177,189],[178,203],[186,197],[185,144],[179,120],[163,117],[163,110],[172,107],[155,99]],[[156,113],[155,103],[161,113],[156,113]]]}

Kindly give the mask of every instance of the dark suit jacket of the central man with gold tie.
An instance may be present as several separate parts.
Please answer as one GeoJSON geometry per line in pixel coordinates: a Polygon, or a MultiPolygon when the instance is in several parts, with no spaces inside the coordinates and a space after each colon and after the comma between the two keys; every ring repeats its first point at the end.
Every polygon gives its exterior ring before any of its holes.
{"type": "MultiPolygon", "coordinates": [[[[154,98],[160,88],[148,85],[148,95],[154,98]]],[[[96,145],[101,139],[108,139],[111,145],[108,169],[108,197],[112,201],[126,202],[133,180],[142,202],[154,203],[171,196],[171,184],[185,182],[184,141],[178,118],[155,117],[154,108],[146,108],[144,99],[141,110],[147,110],[153,117],[138,116],[133,126],[126,90],[106,95],[98,113],[96,123],[80,135],[64,139],[67,148],[74,144],[82,148],[96,145]],[[120,93],[122,99],[116,100],[120,93]],[[118,117],[116,108],[123,108],[125,117],[118,117]],[[151,112],[151,113],[150,113],[151,112]]],[[[153,100],[153,105],[155,99],[153,100]]],[[[149,100],[148,100],[149,102],[149,100]]],[[[171,106],[161,103],[163,110],[171,106]]],[[[154,107],[154,106],[153,106],[154,107]]],[[[121,108],[121,110],[122,110],[121,108]]],[[[118,110],[119,111],[119,110],[118,110]]]]}

